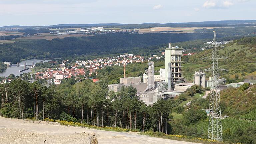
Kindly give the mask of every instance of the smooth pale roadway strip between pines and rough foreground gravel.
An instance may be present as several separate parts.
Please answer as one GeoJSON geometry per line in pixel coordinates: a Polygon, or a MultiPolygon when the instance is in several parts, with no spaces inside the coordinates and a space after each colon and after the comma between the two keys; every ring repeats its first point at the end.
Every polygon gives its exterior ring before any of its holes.
{"type": "MultiPolygon", "coordinates": [[[[88,129],[84,127],[68,127],[62,125],[49,125],[37,123],[25,123],[20,119],[11,119],[0,117],[0,128],[21,129],[27,132],[52,135],[71,135],[74,133],[95,133],[99,144],[196,144],[177,140],[155,138],[139,135],[135,132],[113,132],[97,129],[88,129]]],[[[1,143],[1,142],[0,142],[1,143]]]]}

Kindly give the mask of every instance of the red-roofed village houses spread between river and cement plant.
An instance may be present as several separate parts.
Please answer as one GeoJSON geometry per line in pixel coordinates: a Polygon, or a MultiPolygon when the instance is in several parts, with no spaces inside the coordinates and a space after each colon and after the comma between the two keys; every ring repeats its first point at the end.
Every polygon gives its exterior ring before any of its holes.
{"type": "Polygon", "coordinates": [[[87,61],[76,61],[71,68],[65,67],[66,62],[68,60],[62,61],[62,64],[59,64],[57,68],[54,69],[47,69],[43,72],[36,72],[35,79],[42,79],[42,80],[50,80],[53,79],[54,84],[60,84],[62,80],[76,77],[76,80],[79,82],[81,79],[77,76],[81,75],[87,79],[92,79],[93,82],[99,81],[96,79],[96,72],[97,69],[102,69],[106,66],[113,66],[123,65],[123,61],[127,63],[132,62],[143,62],[148,61],[153,58],[160,59],[158,56],[150,57],[144,59],[144,57],[139,55],[127,54],[127,55],[120,55],[116,57],[110,58],[103,58],[103,59],[94,59],[94,60],[87,60],[87,61]]]}

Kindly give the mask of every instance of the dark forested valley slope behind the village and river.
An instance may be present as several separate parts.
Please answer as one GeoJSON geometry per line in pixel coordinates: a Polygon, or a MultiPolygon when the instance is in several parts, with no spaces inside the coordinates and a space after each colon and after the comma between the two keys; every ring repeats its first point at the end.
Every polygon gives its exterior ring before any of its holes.
{"type": "Polygon", "coordinates": [[[153,46],[210,38],[203,33],[104,34],[92,37],[20,41],[0,44],[0,61],[19,61],[27,58],[65,57],[70,55],[106,55],[126,53],[134,47],[153,46]]]}

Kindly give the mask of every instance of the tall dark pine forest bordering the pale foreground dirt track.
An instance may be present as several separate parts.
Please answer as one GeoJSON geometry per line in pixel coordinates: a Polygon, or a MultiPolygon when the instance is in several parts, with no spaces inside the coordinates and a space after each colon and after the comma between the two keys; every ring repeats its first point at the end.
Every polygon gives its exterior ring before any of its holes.
{"type": "MultiPolygon", "coordinates": [[[[71,78],[48,88],[21,79],[0,85],[0,115],[37,120],[47,117],[100,127],[172,133],[171,112],[179,101],[162,99],[147,107],[138,100],[137,90],[131,86],[122,87],[120,92],[109,92],[105,80],[98,83],[84,80],[77,84],[73,81],[71,78]]],[[[201,118],[205,117],[206,114],[201,118]]]]}

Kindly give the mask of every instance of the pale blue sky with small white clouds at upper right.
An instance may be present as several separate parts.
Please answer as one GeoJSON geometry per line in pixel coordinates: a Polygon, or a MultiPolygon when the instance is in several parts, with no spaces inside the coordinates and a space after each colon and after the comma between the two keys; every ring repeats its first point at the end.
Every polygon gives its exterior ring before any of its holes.
{"type": "Polygon", "coordinates": [[[256,19],[256,0],[0,0],[0,26],[256,19]]]}

